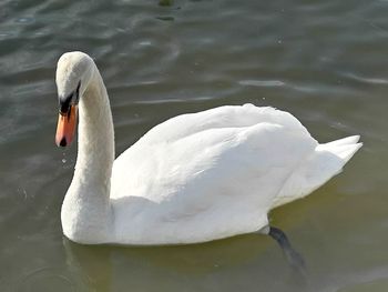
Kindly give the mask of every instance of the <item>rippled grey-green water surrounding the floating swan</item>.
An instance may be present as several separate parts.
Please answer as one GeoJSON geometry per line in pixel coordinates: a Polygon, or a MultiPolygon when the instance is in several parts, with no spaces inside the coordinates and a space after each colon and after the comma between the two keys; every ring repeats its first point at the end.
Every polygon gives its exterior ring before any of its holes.
{"type": "Polygon", "coordinates": [[[0,290],[387,291],[387,13],[382,0],[2,1],[0,290]],[[64,239],[75,147],[53,143],[53,78],[70,50],[96,60],[118,153],[167,118],[245,102],[294,113],[321,142],[361,134],[343,174],[270,213],[307,275],[261,235],[164,248],[64,239]]]}

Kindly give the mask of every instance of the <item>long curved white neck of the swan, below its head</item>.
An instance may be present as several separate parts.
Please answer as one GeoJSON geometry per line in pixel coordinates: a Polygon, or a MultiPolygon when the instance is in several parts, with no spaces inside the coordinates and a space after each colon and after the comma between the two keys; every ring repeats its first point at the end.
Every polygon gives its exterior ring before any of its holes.
{"type": "Polygon", "coordinates": [[[106,242],[112,223],[114,131],[106,89],[94,68],[92,80],[80,98],[78,158],[61,214],[64,234],[81,243],[106,242]]]}

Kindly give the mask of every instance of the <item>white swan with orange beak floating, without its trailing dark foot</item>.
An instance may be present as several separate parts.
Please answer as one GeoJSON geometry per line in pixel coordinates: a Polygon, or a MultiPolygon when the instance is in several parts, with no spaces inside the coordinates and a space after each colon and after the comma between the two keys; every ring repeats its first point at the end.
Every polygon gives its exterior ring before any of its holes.
{"type": "Polygon", "coordinates": [[[57,68],[57,144],[71,142],[74,177],[63,233],[80,243],[180,244],[268,233],[267,213],[341,171],[358,135],[326,144],[292,114],[253,104],[170,119],[114,160],[106,89],[93,60],[64,53],[57,68]]]}

